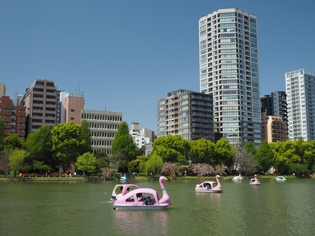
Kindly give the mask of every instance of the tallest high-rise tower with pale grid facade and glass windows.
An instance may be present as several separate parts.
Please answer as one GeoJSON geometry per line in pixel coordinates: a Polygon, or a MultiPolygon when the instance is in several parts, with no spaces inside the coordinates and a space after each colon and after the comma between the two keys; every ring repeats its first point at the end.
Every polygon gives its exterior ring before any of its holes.
{"type": "Polygon", "coordinates": [[[200,92],[213,95],[215,141],[261,143],[257,18],[222,8],[199,20],[200,92]]]}

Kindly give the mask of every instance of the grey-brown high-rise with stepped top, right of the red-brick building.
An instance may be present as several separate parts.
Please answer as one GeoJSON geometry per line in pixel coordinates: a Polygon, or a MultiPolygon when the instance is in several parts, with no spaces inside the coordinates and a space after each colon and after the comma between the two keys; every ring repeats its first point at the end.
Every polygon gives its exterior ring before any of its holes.
{"type": "Polygon", "coordinates": [[[26,88],[26,93],[20,103],[26,106],[26,135],[36,131],[40,126],[57,125],[57,87],[54,81],[35,80],[31,87],[26,88]]]}

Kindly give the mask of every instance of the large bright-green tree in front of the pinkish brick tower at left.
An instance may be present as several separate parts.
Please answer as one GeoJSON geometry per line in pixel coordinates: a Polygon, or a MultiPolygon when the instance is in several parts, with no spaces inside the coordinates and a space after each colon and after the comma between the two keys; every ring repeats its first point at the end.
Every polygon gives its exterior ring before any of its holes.
{"type": "Polygon", "coordinates": [[[52,149],[63,163],[63,169],[69,170],[77,160],[80,147],[80,128],[74,122],[59,124],[53,127],[52,149]]]}

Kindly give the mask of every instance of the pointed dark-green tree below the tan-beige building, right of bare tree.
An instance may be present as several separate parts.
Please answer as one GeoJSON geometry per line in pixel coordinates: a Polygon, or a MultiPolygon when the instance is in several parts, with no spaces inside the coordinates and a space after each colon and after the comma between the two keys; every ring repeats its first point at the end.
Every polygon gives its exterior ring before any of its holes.
{"type": "MultiPolygon", "coordinates": [[[[248,149],[247,151],[249,152],[248,149]]],[[[256,158],[259,163],[258,169],[260,171],[268,171],[270,167],[274,165],[274,153],[268,144],[267,139],[262,140],[261,144],[259,145],[259,148],[256,152],[256,158]]]]}

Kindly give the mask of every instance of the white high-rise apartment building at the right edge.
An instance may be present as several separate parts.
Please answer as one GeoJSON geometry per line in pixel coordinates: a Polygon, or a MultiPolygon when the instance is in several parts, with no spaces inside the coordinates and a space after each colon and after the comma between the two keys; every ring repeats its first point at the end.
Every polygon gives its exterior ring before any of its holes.
{"type": "Polygon", "coordinates": [[[315,72],[295,70],[285,74],[288,95],[289,138],[314,140],[315,72]]]}

